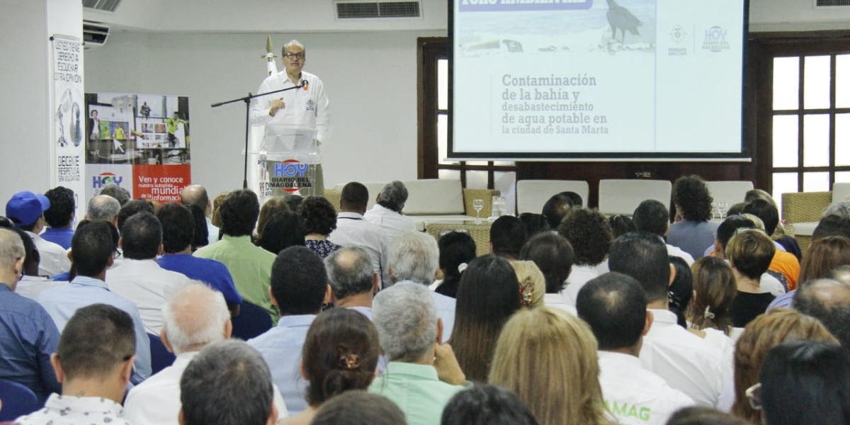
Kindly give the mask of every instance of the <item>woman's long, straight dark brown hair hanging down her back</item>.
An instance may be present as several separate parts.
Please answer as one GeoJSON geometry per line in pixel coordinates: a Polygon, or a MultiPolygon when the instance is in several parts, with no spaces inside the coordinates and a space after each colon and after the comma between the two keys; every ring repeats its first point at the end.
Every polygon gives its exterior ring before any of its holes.
{"type": "Polygon", "coordinates": [[[501,326],[521,305],[518,286],[511,265],[495,255],[475,258],[463,272],[449,344],[468,380],[487,382],[501,326]]]}

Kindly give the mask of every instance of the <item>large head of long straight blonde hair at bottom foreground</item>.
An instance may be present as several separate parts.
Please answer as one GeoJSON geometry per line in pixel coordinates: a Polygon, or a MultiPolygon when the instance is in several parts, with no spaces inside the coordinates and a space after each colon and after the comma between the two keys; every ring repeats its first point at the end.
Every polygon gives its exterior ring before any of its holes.
{"type": "Polygon", "coordinates": [[[541,425],[613,423],[599,385],[596,338],[560,310],[513,314],[496,342],[489,381],[519,395],[541,425]]]}

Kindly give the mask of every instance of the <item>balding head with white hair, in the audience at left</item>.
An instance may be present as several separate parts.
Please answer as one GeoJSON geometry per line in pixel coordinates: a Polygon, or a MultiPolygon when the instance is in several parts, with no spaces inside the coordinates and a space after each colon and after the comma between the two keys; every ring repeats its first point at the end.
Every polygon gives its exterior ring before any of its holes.
{"type": "Polygon", "coordinates": [[[174,293],[162,307],[162,318],[161,336],[174,354],[226,339],[232,329],[224,296],[197,280],[174,293]]]}

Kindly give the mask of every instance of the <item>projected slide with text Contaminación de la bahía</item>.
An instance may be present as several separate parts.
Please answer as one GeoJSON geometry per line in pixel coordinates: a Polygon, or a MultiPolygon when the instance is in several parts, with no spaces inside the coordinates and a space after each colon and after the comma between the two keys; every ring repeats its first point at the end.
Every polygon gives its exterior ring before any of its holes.
{"type": "Polygon", "coordinates": [[[456,0],[450,155],[740,154],[744,10],[456,0]]]}

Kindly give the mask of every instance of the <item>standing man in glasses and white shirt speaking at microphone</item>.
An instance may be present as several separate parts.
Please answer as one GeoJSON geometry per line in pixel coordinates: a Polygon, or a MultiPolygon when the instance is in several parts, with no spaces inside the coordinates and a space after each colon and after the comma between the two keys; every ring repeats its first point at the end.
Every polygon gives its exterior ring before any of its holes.
{"type": "MultiPolygon", "coordinates": [[[[265,126],[265,150],[290,150],[298,161],[312,156],[314,163],[314,195],[324,195],[320,146],[330,133],[331,109],[325,87],[319,77],[301,71],[307,58],[303,44],[297,40],[283,46],[280,61],[284,71],[266,78],[258,94],[282,88],[295,88],[252,100],[251,121],[265,126]],[[297,87],[301,88],[297,88],[297,87]]],[[[290,159],[290,158],[286,158],[290,159]]],[[[271,160],[271,158],[269,158],[271,160]]],[[[275,160],[276,161],[276,160],[275,160]]]]}

